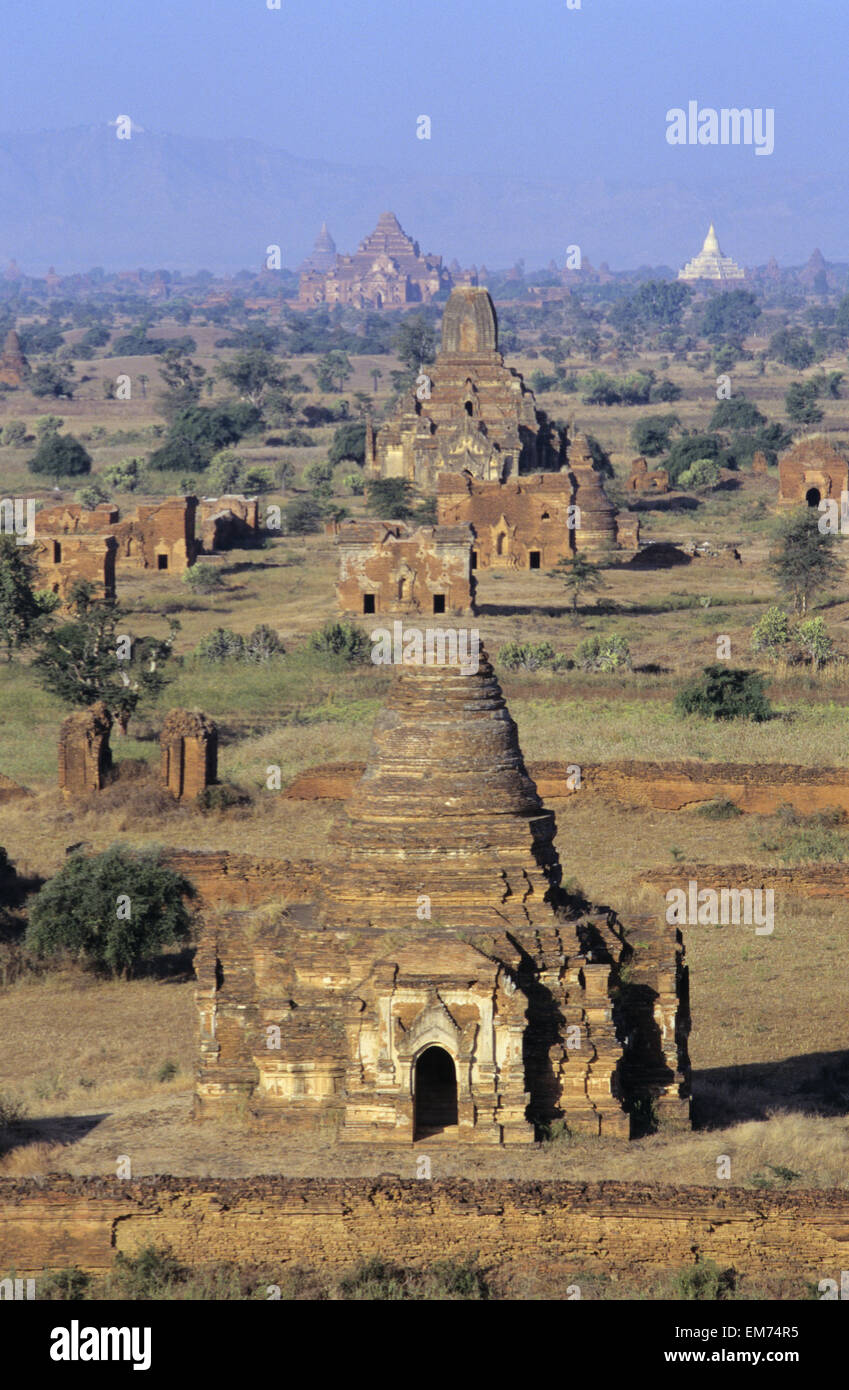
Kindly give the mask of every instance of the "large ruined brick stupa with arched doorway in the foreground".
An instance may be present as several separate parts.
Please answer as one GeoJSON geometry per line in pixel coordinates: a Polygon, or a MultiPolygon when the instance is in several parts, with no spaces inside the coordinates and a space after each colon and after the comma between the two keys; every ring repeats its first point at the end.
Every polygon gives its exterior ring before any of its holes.
{"type": "Polygon", "coordinates": [[[641,922],[638,958],[563,891],[485,656],[399,671],[349,805],[311,902],[207,929],[200,1116],[247,1098],[275,1127],[396,1144],[627,1136],[650,1105],[688,1123],[675,929],[641,922]]]}

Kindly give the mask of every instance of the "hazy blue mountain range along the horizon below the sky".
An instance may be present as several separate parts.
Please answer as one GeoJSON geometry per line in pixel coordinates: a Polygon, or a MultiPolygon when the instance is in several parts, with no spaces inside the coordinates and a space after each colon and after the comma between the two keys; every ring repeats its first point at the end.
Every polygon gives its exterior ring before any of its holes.
{"type": "Polygon", "coordinates": [[[195,139],[114,126],[0,135],[0,265],[29,275],[101,265],[258,268],[279,245],[289,268],[322,221],[353,252],[385,210],[422,252],[491,270],[528,268],[579,245],[595,265],[682,265],[716,222],[723,250],[743,265],[800,264],[814,246],[846,260],[849,179],[773,175],[753,160],[730,182],[627,186],[602,177],[546,179],[531,158],[520,174],[429,177],[304,160],[254,140],[195,139]]]}

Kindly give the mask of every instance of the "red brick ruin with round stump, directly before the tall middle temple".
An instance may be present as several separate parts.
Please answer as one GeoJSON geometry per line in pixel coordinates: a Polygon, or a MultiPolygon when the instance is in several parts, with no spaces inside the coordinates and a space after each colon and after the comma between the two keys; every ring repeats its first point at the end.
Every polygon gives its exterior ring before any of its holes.
{"type": "Polygon", "coordinates": [[[613,557],[639,549],[639,520],[617,513],[579,434],[560,473],[504,482],[470,473],[440,474],[436,516],[440,525],[472,527],[472,569],[549,570],[575,553],[613,557]]]}

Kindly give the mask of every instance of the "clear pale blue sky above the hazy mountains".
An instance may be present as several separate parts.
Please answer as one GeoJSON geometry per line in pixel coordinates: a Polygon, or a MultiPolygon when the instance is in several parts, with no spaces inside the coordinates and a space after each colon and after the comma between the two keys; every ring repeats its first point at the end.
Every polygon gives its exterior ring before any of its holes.
{"type": "Polygon", "coordinates": [[[745,179],[750,199],[843,172],[846,0],[268,3],[3,0],[0,132],[129,114],[427,177],[745,179]],[[670,146],[666,113],[689,100],[774,108],[774,153],[670,146]]]}

